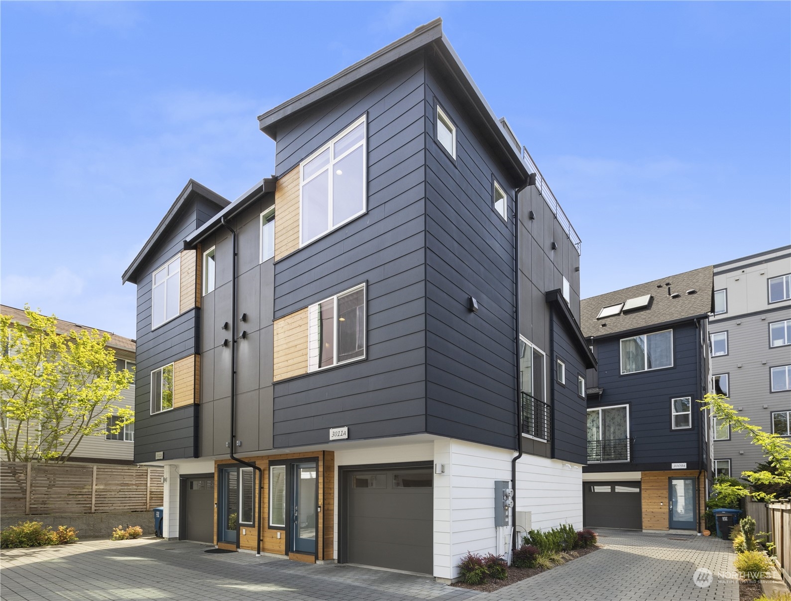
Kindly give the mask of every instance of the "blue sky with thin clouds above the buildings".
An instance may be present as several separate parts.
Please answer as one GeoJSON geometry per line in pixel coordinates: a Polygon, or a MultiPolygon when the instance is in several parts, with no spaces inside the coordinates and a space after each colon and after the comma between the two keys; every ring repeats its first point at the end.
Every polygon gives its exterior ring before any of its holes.
{"type": "Polygon", "coordinates": [[[271,174],[256,115],[445,33],[582,239],[582,294],[791,242],[788,2],[2,2],[0,300],[134,338],[120,284],[192,177],[271,174]]]}

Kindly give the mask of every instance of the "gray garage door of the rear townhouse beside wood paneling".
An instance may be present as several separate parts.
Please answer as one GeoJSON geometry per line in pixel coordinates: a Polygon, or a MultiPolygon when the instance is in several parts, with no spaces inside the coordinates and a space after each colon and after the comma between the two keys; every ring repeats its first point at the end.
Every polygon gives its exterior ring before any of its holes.
{"type": "Polygon", "coordinates": [[[642,529],[640,482],[584,482],[585,527],[642,529]]]}

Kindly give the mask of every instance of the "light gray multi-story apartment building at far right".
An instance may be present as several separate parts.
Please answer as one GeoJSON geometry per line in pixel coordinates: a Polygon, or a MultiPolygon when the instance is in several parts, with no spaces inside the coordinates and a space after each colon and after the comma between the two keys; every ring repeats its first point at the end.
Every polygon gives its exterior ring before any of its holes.
{"type": "MultiPolygon", "coordinates": [[[[709,321],[713,388],[766,432],[791,436],[791,246],[714,266],[709,321]]],[[[740,477],[765,458],[727,424],[714,424],[718,474],[740,477]]]]}

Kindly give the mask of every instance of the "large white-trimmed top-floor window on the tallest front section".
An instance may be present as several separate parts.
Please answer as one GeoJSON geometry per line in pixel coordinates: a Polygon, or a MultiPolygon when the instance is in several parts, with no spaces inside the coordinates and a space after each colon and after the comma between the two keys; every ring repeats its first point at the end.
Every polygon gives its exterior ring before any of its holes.
{"type": "Polygon", "coordinates": [[[365,213],[365,115],[300,164],[300,245],[365,213]]]}

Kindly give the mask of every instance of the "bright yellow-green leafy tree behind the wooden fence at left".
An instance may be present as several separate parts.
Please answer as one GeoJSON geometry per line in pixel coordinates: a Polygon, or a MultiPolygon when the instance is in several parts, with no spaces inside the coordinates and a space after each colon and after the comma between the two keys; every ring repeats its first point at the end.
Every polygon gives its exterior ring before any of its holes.
{"type": "Polygon", "coordinates": [[[55,316],[25,305],[28,324],[0,316],[0,449],[9,461],[65,462],[85,437],[117,434],[134,422],[115,406],[132,383],[115,370],[110,335],[56,331],[55,316]],[[118,419],[112,426],[108,418],[118,419]]]}

